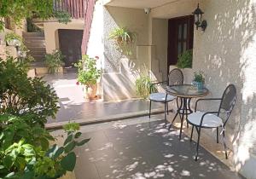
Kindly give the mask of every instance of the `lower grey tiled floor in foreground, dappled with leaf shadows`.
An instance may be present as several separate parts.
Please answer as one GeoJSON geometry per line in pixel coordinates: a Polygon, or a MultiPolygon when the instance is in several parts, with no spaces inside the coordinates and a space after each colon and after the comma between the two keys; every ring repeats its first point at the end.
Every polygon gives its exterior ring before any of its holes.
{"type": "Polygon", "coordinates": [[[77,179],[238,179],[236,173],[200,147],[195,162],[195,142],[178,131],[163,128],[162,115],[82,127],[90,138],[76,150],[77,179]],[[127,122],[128,121],[128,122],[127,122]]]}

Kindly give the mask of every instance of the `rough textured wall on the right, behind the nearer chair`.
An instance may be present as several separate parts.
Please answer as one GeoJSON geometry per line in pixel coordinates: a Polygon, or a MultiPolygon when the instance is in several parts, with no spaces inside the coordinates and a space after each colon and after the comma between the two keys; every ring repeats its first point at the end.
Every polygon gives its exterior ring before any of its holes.
{"type": "Polygon", "coordinates": [[[194,70],[207,74],[211,96],[222,95],[227,84],[236,85],[236,108],[227,124],[227,134],[236,170],[248,178],[256,178],[255,170],[247,168],[255,169],[256,161],[253,160],[256,153],[254,6],[254,0],[201,1],[208,26],[206,32],[195,31],[193,61],[194,70]]]}

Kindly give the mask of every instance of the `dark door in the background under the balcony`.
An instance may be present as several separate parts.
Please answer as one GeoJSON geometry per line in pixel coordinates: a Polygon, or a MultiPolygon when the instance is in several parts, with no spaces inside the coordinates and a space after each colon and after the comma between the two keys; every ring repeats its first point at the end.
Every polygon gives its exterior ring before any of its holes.
{"type": "Polygon", "coordinates": [[[81,59],[83,31],[60,29],[58,32],[61,53],[65,55],[65,66],[73,66],[73,63],[81,59]]]}

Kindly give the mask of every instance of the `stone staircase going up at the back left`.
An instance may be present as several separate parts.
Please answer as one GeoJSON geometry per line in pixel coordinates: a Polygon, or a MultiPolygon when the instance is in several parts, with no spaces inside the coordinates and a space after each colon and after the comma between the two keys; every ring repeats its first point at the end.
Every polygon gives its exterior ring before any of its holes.
{"type": "Polygon", "coordinates": [[[35,59],[32,66],[44,66],[46,54],[44,32],[23,32],[23,39],[27,49],[30,50],[28,55],[32,55],[35,59]]]}

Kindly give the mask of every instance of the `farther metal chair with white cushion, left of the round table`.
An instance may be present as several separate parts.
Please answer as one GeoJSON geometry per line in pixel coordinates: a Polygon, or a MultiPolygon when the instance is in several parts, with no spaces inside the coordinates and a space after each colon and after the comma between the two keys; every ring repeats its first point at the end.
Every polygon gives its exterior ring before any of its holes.
{"type": "MultiPolygon", "coordinates": [[[[163,82],[159,82],[159,83],[154,83],[152,84],[152,86],[157,85],[157,84],[166,84],[166,85],[173,85],[173,84],[183,84],[183,72],[178,69],[175,68],[173,69],[171,72],[169,72],[168,74],[168,80],[167,81],[163,81],[163,82]]],[[[152,89],[152,88],[150,88],[152,89]]],[[[151,91],[150,91],[151,93],[151,91]]],[[[176,97],[172,96],[172,95],[167,95],[164,92],[158,92],[158,93],[151,93],[149,95],[149,118],[151,116],[151,103],[152,101],[154,102],[161,102],[165,104],[165,120],[166,120],[166,113],[168,114],[169,110],[168,110],[168,102],[175,100],[176,97]]],[[[167,124],[167,120],[166,120],[166,124],[167,124]]]]}

